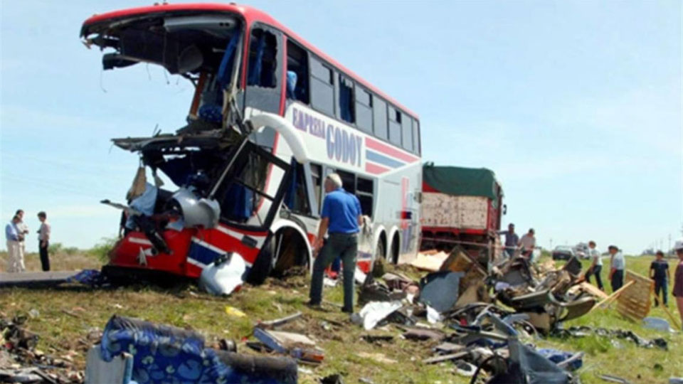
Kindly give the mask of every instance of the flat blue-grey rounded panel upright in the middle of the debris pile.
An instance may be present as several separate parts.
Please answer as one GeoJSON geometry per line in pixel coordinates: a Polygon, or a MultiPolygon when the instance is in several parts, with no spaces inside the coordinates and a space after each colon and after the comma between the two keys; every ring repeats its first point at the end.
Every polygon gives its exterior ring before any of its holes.
{"type": "Polygon", "coordinates": [[[434,272],[420,279],[420,302],[439,313],[449,311],[459,296],[462,272],[434,272]]]}

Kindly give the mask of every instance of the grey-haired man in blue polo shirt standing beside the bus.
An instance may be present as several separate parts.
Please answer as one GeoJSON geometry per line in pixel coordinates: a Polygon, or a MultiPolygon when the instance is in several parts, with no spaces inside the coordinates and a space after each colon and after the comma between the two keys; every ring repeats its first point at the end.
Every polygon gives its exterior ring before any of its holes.
{"type": "Polygon", "coordinates": [[[330,174],[325,178],[325,200],[315,241],[317,257],[313,262],[309,306],[319,306],[322,301],[322,279],[325,268],[336,258],[341,257],[344,266],[344,308],[354,311],[354,273],[356,253],[358,253],[358,233],[361,219],[361,203],[356,196],[344,191],[342,178],[330,174]],[[329,233],[323,246],[325,233],[329,233]],[[321,250],[322,248],[322,250],[321,250]],[[319,251],[319,252],[318,252],[319,251]]]}

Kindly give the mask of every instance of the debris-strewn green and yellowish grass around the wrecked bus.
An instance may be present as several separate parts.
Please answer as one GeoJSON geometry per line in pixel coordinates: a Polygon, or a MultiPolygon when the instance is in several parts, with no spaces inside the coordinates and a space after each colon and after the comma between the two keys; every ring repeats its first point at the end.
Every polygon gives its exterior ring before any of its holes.
{"type": "MultiPolygon", "coordinates": [[[[4,257],[4,255],[0,255],[4,257]]],[[[29,255],[27,265],[38,270],[39,263],[29,255]]],[[[646,274],[651,258],[628,257],[627,267],[646,274]]],[[[53,257],[55,269],[95,267],[96,256],[79,254],[53,257]],[[74,259],[75,257],[75,259],[74,259]],[[78,260],[78,262],[73,261],[78,260]],[[82,264],[80,264],[82,263],[82,264]]],[[[401,272],[418,276],[408,267],[401,272]]],[[[606,280],[606,272],[603,272],[606,280]]],[[[455,373],[452,363],[427,366],[423,358],[431,356],[429,342],[407,341],[398,337],[401,331],[394,326],[376,329],[372,334],[391,334],[393,341],[368,343],[361,337],[367,334],[351,324],[333,304],[325,311],[313,311],[307,301],[308,282],[304,277],[287,281],[269,279],[260,287],[245,286],[228,298],[216,298],[198,292],[193,286],[161,289],[157,287],[125,287],[119,289],[4,289],[0,290],[0,315],[12,316],[36,309],[39,316],[28,321],[28,328],[41,336],[38,348],[60,355],[69,350],[83,351],[88,341],[85,335],[93,328],[102,329],[113,314],[135,316],[149,321],[171,324],[200,331],[209,343],[218,338],[233,338],[238,350],[250,353],[243,344],[258,320],[274,319],[302,311],[304,316],[285,329],[307,334],[317,341],[326,353],[324,363],[305,367],[312,373],[300,373],[301,383],[317,383],[317,378],[331,373],[344,373],[346,383],[357,383],[369,378],[374,383],[468,383],[455,373]],[[226,314],[226,306],[234,306],[247,317],[226,314]],[[330,329],[329,327],[332,327],[330,329]]],[[[327,302],[342,302],[341,287],[326,288],[327,302]]],[[[669,304],[675,314],[675,307],[669,304]]],[[[666,319],[662,309],[653,309],[650,316],[666,319]]],[[[667,334],[644,329],[623,319],[615,310],[596,310],[588,316],[568,322],[571,325],[603,326],[609,329],[630,329],[645,338],[663,337],[669,351],[645,349],[629,341],[620,340],[617,346],[608,338],[590,336],[581,339],[536,339],[539,346],[551,346],[566,351],[585,351],[584,367],[579,371],[583,383],[603,383],[596,373],[609,373],[632,383],[665,383],[672,375],[683,376],[683,335],[667,334]],[[658,364],[658,366],[655,366],[658,364]],[[661,366],[661,368],[660,368],[661,366]]],[[[83,353],[74,357],[83,366],[83,353]]]]}

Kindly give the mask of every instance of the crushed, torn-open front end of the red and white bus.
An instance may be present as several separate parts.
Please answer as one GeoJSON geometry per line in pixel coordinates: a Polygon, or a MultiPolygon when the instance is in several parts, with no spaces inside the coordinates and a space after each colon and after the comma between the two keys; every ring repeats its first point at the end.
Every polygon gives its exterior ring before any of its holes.
{"type": "MultiPolygon", "coordinates": [[[[216,257],[230,254],[243,258],[245,279],[258,283],[277,267],[270,225],[280,214],[291,166],[255,141],[261,127],[277,130],[281,118],[243,118],[238,93],[248,20],[238,7],[220,8],[151,6],[83,24],[86,46],[107,50],[105,70],[153,63],[196,87],[187,124],[174,134],[113,139],[139,155],[141,169],[126,204],[103,201],[125,212],[125,236],[105,267],[110,274],[196,278],[216,257]],[[154,182],[147,182],[148,173],[154,182]],[[179,188],[162,188],[158,173],[179,188]]],[[[295,133],[278,133],[294,140],[293,156],[304,156],[295,133]]]]}

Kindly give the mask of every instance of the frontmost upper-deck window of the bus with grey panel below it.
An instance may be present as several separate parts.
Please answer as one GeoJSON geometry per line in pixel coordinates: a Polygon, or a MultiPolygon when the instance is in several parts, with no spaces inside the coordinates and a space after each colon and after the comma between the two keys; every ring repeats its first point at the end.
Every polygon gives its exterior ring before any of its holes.
{"type": "Polygon", "coordinates": [[[280,114],[283,55],[282,33],[255,23],[249,35],[245,107],[280,114]]]}

